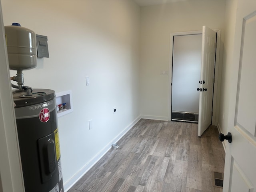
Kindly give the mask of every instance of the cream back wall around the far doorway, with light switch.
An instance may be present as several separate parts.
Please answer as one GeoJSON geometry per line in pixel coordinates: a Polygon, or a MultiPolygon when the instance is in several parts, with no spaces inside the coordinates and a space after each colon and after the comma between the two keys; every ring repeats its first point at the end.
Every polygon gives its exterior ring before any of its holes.
{"type": "Polygon", "coordinates": [[[193,0],[141,8],[142,116],[169,119],[169,78],[160,75],[160,71],[169,70],[170,33],[202,30],[204,25],[222,29],[225,6],[224,0],[193,0]]]}

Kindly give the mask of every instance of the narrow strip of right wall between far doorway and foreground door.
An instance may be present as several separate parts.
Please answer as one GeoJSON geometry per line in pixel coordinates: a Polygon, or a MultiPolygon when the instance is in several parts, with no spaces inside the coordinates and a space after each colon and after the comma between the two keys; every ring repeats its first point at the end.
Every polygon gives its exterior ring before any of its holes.
{"type": "Polygon", "coordinates": [[[227,0],[225,28],[224,28],[224,48],[223,48],[223,66],[222,66],[222,80],[220,90],[220,110],[218,127],[220,131],[227,134],[228,129],[228,110],[230,98],[230,85],[232,81],[233,65],[233,47],[235,36],[236,10],[237,0],[227,0]]]}

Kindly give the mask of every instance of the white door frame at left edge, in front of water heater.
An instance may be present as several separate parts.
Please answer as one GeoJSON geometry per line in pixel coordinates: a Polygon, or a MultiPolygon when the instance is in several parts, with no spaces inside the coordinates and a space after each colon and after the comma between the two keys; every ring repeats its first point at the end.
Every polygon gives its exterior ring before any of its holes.
{"type": "Polygon", "coordinates": [[[25,192],[0,1],[0,192],[25,192]]]}

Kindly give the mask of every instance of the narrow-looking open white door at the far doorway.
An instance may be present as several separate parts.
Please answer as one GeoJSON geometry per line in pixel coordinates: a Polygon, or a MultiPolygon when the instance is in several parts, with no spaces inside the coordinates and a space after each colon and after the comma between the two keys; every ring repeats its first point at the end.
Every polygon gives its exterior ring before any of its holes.
{"type": "Polygon", "coordinates": [[[203,26],[198,136],[201,136],[212,122],[215,51],[216,32],[203,26]]]}

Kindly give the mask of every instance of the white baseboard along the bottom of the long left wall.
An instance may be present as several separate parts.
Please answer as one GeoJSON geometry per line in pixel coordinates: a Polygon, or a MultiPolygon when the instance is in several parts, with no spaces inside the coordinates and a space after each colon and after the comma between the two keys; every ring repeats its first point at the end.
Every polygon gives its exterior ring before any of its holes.
{"type": "Polygon", "coordinates": [[[107,152],[110,150],[113,143],[117,143],[118,140],[122,138],[139,120],[141,119],[141,116],[136,118],[130,125],[128,125],[118,136],[116,136],[111,142],[109,142],[106,147],[104,147],[96,156],[94,156],[88,163],[84,165],[83,168],[81,168],[72,178],[70,178],[67,182],[64,183],[64,191],[67,192],[92,166],[94,166],[107,152]]]}

